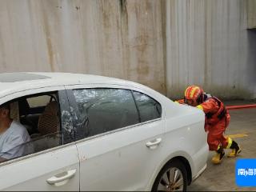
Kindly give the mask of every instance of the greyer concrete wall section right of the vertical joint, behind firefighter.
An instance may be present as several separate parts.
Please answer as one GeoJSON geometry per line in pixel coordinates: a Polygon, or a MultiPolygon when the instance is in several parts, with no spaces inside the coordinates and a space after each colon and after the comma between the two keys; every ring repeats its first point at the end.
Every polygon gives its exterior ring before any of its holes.
{"type": "Polygon", "coordinates": [[[170,0],[166,9],[168,95],[197,84],[222,98],[256,96],[256,35],[246,30],[246,1],[170,0]]]}

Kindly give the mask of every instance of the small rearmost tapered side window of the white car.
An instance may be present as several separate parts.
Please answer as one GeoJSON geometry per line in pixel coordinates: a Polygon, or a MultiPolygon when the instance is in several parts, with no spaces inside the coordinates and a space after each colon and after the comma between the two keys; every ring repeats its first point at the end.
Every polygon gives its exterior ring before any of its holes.
{"type": "Polygon", "coordinates": [[[142,94],[138,91],[134,91],[134,99],[138,106],[139,116],[141,122],[147,122],[155,118],[161,118],[162,107],[159,102],[150,98],[146,94],[142,94]]]}

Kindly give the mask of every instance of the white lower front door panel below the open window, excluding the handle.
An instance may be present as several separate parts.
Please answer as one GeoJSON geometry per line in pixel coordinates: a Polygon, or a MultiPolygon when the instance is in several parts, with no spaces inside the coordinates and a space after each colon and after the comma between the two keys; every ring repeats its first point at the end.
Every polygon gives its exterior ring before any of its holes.
{"type": "Polygon", "coordinates": [[[79,159],[74,144],[58,150],[43,151],[3,162],[0,166],[0,190],[79,190],[79,159]],[[62,186],[50,185],[47,179],[68,170],[76,170],[62,186]]]}

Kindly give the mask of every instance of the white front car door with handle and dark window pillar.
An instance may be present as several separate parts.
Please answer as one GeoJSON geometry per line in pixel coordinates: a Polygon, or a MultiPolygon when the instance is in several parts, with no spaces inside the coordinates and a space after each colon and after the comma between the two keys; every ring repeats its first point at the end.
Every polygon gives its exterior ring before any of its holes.
{"type": "MultiPolygon", "coordinates": [[[[59,87],[60,90],[54,89],[47,88],[58,95],[62,125],[62,139],[59,140],[61,142],[58,146],[46,150],[36,151],[34,148],[34,153],[0,163],[0,190],[79,190],[78,150],[70,131],[73,127],[66,90],[63,87],[59,87]]],[[[35,90],[31,91],[37,94],[35,90]]],[[[29,92],[26,90],[26,95],[29,92]]],[[[21,93],[18,94],[21,96],[21,93]]],[[[14,99],[14,95],[12,97],[14,99]]],[[[42,142],[43,145],[45,139],[48,139],[48,142],[56,139],[47,137],[43,136],[38,140],[31,138],[30,144],[42,142]]]]}

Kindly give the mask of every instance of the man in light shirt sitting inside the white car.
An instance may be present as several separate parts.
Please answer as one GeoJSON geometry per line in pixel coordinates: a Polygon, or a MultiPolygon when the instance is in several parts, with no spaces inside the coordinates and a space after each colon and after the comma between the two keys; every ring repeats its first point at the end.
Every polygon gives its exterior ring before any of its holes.
{"type": "Polygon", "coordinates": [[[30,135],[26,127],[10,118],[10,104],[0,106],[0,162],[21,157],[26,153],[30,135]]]}

